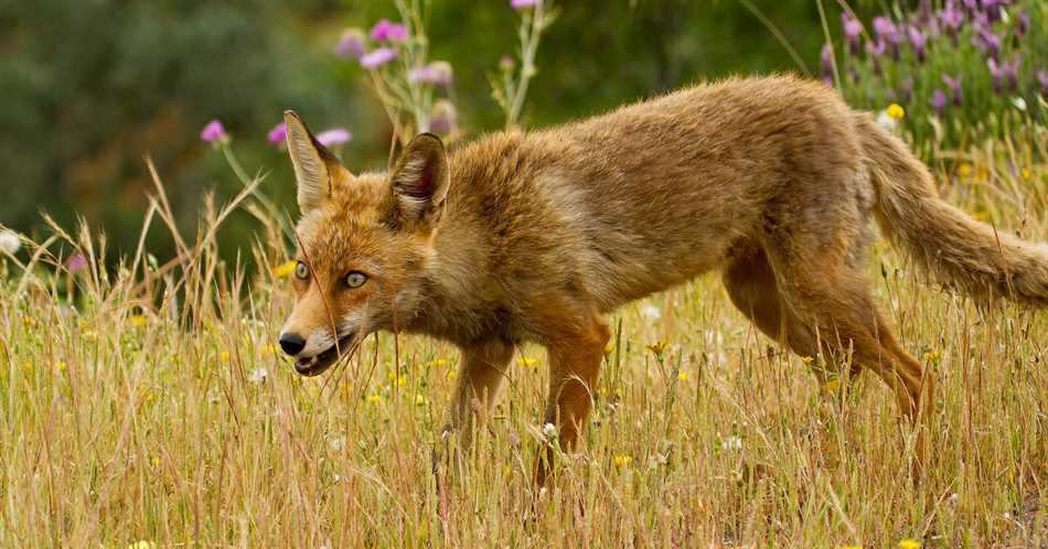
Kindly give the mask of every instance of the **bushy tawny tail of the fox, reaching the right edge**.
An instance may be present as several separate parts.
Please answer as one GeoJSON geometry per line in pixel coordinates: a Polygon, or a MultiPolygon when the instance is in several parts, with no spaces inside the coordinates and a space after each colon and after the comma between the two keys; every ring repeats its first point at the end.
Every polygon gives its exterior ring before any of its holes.
{"type": "Polygon", "coordinates": [[[938,282],[977,299],[1048,306],[1048,246],[979,223],[939,198],[931,173],[868,115],[857,125],[878,195],[877,218],[938,282]]]}

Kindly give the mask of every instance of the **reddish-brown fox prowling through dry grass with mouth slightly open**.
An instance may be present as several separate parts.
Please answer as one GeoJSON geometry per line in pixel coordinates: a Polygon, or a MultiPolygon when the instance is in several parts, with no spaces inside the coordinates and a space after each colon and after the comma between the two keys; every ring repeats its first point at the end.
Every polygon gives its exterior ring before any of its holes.
{"type": "Polygon", "coordinates": [[[280,347],[316,376],[375,331],[450,342],[461,351],[449,410],[460,444],[515,347],[532,342],[548,358],[542,422],[574,452],[606,316],[719,271],[761,333],[816,357],[821,381],[844,364],[883,379],[923,453],[934,374],[875,303],[871,222],[932,282],[979,302],[1048,305],[1048,246],[941,200],[900,138],[799,76],[695,84],[450,150],[421,133],[387,171],[359,174],[296,112],[285,120],[300,218],[280,347]]]}

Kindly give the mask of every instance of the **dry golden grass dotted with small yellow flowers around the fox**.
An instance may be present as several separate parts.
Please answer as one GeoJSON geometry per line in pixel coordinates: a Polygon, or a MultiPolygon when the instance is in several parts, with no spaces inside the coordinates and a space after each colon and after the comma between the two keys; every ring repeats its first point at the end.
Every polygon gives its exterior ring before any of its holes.
{"type": "MultiPolygon", "coordinates": [[[[934,168],[951,202],[1045,240],[1045,152],[998,142],[934,168]]],[[[249,194],[232,206],[267,219],[249,194]]],[[[223,212],[204,212],[172,263],[139,250],[118,270],[68,273],[55,243],[94,257],[100,239],[56,229],[29,246],[29,274],[25,252],[0,267],[0,546],[1048,543],[1048,316],[979,311],[884,244],[870,262],[880,302],[938,376],[919,484],[881,383],[864,374],[821,395],[805,360],[707,276],[611,319],[585,452],[536,497],[539,348],[520,351],[458,462],[440,437],[450,346],[382,334],[334,375],[297,377],[272,346],[292,299],[270,274],[279,229],[263,225],[267,268],[249,278],[215,258],[223,212]]],[[[170,219],[158,194],[147,224],[170,219]]]]}

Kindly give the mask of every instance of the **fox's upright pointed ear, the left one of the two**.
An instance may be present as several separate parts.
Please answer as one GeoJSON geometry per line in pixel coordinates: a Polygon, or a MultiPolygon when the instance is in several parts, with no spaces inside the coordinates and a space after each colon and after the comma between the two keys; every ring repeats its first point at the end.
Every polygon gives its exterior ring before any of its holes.
{"type": "Polygon", "coordinates": [[[288,153],[295,166],[295,179],[298,180],[298,207],[304,214],[331,196],[329,164],[338,160],[317,141],[293,110],[284,112],[284,123],[287,127],[288,153]]]}

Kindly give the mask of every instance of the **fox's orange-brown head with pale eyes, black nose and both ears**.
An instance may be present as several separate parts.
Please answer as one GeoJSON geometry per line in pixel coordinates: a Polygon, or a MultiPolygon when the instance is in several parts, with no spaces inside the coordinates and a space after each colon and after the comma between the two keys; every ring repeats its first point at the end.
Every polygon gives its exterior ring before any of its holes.
{"type": "Polygon", "coordinates": [[[313,376],[367,334],[397,330],[416,314],[435,257],[448,159],[440,139],[424,133],[388,173],[354,175],[298,115],[284,118],[301,217],[298,299],[279,343],[299,374],[313,376]]]}

